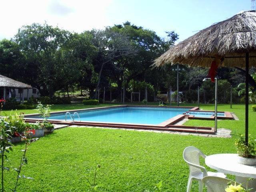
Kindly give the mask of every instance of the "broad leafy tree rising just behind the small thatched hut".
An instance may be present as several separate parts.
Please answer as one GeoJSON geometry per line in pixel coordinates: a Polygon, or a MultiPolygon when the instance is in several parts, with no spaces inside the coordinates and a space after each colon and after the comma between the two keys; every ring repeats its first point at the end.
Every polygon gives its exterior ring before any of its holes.
{"type": "Polygon", "coordinates": [[[60,48],[66,44],[70,32],[48,24],[22,26],[14,40],[25,57],[23,78],[38,88],[42,96],[53,96],[61,88],[63,79],[60,48]]]}

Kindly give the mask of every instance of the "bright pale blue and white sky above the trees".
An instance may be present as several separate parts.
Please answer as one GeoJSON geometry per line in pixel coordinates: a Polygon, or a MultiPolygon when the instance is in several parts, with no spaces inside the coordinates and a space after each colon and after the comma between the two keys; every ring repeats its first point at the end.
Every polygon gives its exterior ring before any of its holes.
{"type": "Polygon", "coordinates": [[[250,8],[250,0],[0,0],[0,40],[34,22],[83,32],[129,21],[182,41],[250,8]]]}

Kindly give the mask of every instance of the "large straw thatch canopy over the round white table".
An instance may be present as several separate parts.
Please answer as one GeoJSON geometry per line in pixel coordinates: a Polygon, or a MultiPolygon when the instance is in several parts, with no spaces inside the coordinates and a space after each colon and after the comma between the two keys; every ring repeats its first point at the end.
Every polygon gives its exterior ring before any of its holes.
{"type": "Polygon", "coordinates": [[[180,63],[206,67],[211,65],[211,57],[218,54],[224,57],[222,66],[243,67],[246,51],[252,56],[250,65],[256,66],[256,11],[236,14],[201,30],[170,48],[154,61],[154,65],[180,63]]]}

